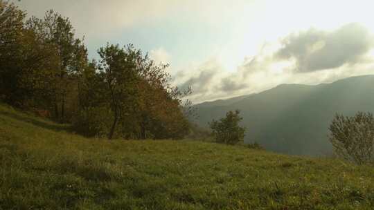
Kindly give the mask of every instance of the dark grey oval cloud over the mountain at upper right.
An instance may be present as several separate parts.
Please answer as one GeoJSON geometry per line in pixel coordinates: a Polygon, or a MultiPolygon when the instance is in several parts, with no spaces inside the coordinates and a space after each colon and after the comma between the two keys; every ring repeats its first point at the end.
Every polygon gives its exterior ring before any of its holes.
{"type": "Polygon", "coordinates": [[[281,40],[275,54],[279,59],[294,59],[297,72],[310,72],[355,64],[373,47],[373,37],[358,23],[335,31],[310,29],[281,40]]]}

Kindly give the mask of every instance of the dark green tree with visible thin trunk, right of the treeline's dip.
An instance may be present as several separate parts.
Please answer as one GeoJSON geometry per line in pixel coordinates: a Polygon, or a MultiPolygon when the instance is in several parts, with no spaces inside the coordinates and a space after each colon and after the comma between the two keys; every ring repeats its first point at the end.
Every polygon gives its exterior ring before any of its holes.
{"type": "Polygon", "coordinates": [[[139,81],[139,58],[141,51],[128,45],[120,48],[109,45],[98,50],[100,55],[100,73],[106,84],[109,108],[113,115],[112,126],[108,134],[112,139],[118,121],[130,116],[136,108],[136,82],[139,81]]]}

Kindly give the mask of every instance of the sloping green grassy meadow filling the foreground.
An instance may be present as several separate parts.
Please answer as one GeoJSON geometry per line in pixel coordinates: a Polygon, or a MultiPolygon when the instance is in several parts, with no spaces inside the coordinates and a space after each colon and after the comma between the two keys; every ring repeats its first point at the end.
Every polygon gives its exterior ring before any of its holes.
{"type": "Polygon", "coordinates": [[[68,128],[0,105],[0,209],[374,208],[371,166],[68,128]]]}

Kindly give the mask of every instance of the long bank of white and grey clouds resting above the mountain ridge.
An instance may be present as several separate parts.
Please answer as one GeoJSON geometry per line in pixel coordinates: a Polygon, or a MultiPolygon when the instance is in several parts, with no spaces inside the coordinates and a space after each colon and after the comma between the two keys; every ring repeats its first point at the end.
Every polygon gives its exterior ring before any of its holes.
{"type": "Polygon", "coordinates": [[[371,34],[357,23],[328,32],[310,29],[263,44],[259,52],[227,73],[218,61],[179,72],[195,90],[194,102],[259,93],[279,84],[320,84],[372,74],[371,34]]]}

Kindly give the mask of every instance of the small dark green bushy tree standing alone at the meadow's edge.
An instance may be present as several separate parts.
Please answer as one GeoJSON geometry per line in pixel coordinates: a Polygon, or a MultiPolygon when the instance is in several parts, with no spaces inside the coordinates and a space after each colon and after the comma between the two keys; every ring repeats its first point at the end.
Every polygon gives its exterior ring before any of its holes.
{"type": "Polygon", "coordinates": [[[239,126],[242,117],[239,116],[240,111],[229,111],[226,117],[219,121],[213,120],[209,123],[216,142],[225,144],[236,144],[244,140],[245,128],[239,126]]]}

